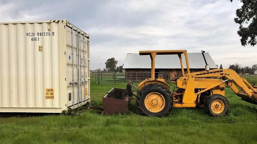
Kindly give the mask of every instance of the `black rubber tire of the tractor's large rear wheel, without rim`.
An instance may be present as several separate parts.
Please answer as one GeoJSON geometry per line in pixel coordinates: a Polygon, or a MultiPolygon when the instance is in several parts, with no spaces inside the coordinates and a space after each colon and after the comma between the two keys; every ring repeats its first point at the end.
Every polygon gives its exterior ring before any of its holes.
{"type": "Polygon", "coordinates": [[[141,115],[144,116],[157,116],[164,117],[167,116],[171,112],[171,108],[173,106],[172,95],[171,92],[164,85],[160,85],[158,83],[151,83],[145,85],[140,91],[138,91],[136,95],[136,106],[141,115]],[[145,98],[149,93],[158,92],[164,97],[165,106],[164,108],[157,112],[153,113],[149,111],[145,106],[145,98]]]}

